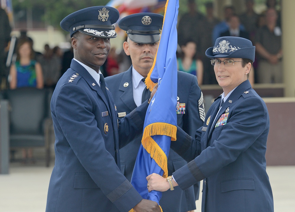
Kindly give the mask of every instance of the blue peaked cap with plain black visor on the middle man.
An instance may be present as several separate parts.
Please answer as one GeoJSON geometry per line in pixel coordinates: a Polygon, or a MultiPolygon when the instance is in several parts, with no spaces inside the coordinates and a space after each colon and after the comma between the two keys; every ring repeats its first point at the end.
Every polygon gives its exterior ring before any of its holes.
{"type": "Polygon", "coordinates": [[[155,43],[160,40],[163,18],[155,13],[137,13],[122,18],[118,25],[133,42],[155,43]]]}

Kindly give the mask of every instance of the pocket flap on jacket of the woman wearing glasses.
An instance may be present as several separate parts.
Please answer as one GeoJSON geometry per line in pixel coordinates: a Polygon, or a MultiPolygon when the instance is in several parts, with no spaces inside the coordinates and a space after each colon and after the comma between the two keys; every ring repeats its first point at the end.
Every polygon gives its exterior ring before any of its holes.
{"type": "Polygon", "coordinates": [[[234,190],[255,190],[254,180],[250,178],[238,178],[225,180],[220,183],[221,192],[234,190]]]}

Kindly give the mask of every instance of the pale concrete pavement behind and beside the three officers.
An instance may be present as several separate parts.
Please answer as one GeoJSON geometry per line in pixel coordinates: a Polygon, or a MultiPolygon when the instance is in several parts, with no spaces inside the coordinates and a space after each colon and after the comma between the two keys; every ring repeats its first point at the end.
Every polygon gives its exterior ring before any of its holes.
{"type": "MultiPolygon", "coordinates": [[[[10,173],[0,175],[0,212],[44,212],[52,169],[53,165],[46,168],[44,161],[34,165],[11,163],[10,173]]],[[[268,166],[267,173],[275,212],[293,212],[295,166],[268,166]]],[[[195,212],[201,211],[200,200],[196,201],[196,208],[195,212]]]]}

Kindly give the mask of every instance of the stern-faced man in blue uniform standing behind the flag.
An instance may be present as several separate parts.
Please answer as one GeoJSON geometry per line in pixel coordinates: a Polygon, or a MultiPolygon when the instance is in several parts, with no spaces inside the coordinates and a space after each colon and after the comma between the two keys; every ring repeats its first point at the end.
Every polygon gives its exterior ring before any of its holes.
{"type": "MultiPolygon", "coordinates": [[[[150,92],[144,83],[153,65],[160,40],[163,16],[154,13],[138,13],[122,18],[119,27],[126,30],[128,38],[123,48],[130,55],[132,66],[123,73],[106,77],[110,91],[114,97],[119,117],[129,114],[134,108],[147,99],[150,92]]],[[[204,122],[203,95],[198,86],[196,76],[178,71],[177,92],[177,124],[189,135],[204,122]]],[[[131,180],[142,135],[120,149],[121,171],[131,180]]],[[[185,165],[186,161],[170,150],[168,157],[168,174],[170,175],[185,165]]],[[[196,194],[199,196],[199,184],[196,194]]],[[[176,188],[163,192],[160,200],[163,211],[184,212],[196,209],[194,188],[185,191],[176,188]]]]}

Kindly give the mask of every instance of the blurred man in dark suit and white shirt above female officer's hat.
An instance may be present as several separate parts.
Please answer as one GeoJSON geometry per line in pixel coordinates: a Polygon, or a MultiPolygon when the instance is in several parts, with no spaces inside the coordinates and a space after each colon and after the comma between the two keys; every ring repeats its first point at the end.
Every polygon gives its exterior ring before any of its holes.
{"type": "Polygon", "coordinates": [[[229,28],[220,33],[220,37],[233,36],[242,37],[249,40],[249,34],[245,30],[240,29],[240,19],[236,14],[233,14],[228,21],[229,28]]]}

